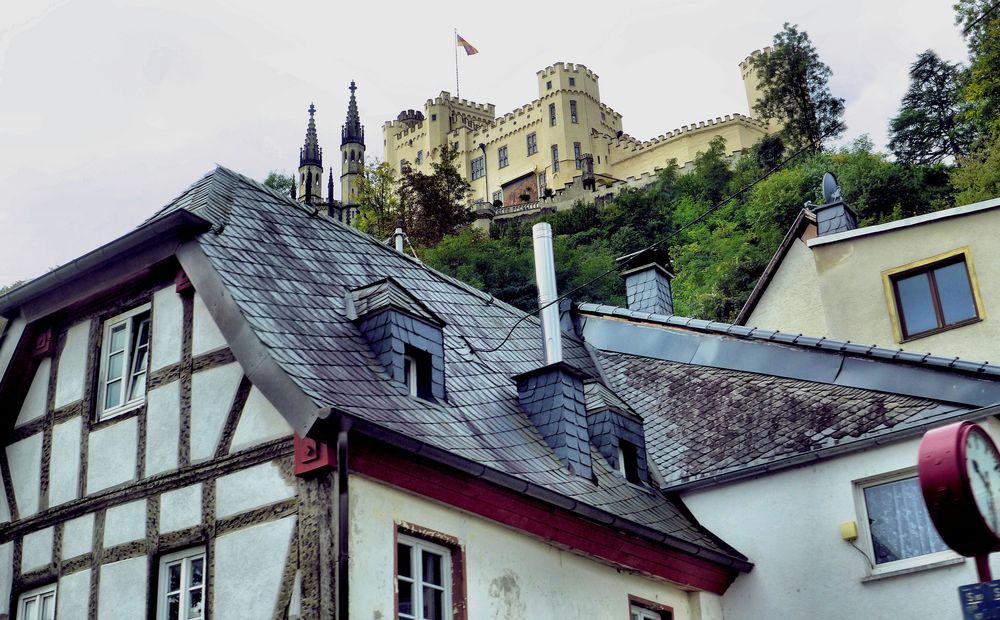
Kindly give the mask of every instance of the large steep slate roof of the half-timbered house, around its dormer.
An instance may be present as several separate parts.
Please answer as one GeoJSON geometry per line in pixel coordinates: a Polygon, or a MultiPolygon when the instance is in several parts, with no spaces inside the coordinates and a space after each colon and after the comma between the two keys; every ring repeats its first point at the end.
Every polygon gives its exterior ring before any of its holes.
{"type": "MultiPolygon", "coordinates": [[[[536,319],[427,268],[259,183],[217,168],[155,216],[211,220],[198,242],[258,337],[313,401],[651,528],[743,559],[671,500],[628,484],[592,450],[597,484],[569,474],[517,404],[511,377],[541,365],[536,319]],[[387,380],[345,294],[387,275],[444,322],[448,401],[429,403],[387,380]],[[509,330],[510,339],[495,352],[509,330]]],[[[599,372],[578,340],[564,360],[599,372]]]]}

